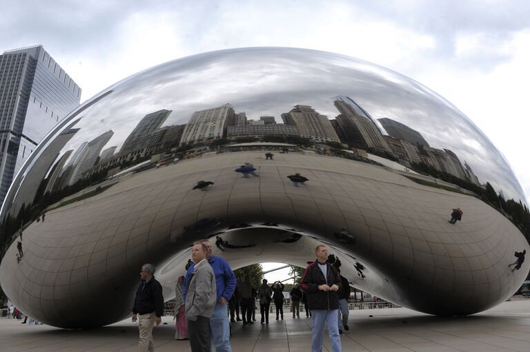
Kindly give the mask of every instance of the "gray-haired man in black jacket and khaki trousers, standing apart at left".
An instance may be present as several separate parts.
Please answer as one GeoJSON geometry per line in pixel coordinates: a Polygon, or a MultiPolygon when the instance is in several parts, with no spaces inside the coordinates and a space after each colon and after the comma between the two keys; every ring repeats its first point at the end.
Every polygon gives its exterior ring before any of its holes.
{"type": "Polygon", "coordinates": [[[161,322],[164,313],[164,296],[162,286],[155,280],[155,267],[144,264],[141,267],[141,284],[136,291],[135,305],[133,307],[133,322],[138,320],[140,352],[155,351],[153,343],[153,327],[161,322]],[[139,316],[138,316],[139,315],[139,316]]]}

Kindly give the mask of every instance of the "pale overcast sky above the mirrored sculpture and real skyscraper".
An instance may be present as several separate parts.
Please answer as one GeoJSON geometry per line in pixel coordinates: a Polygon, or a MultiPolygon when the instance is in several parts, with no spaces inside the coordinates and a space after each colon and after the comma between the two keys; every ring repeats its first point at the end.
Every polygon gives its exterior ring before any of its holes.
{"type": "Polygon", "coordinates": [[[456,105],[530,194],[530,1],[0,0],[0,50],[42,44],[81,101],[182,56],[310,48],[377,63],[456,105]]]}

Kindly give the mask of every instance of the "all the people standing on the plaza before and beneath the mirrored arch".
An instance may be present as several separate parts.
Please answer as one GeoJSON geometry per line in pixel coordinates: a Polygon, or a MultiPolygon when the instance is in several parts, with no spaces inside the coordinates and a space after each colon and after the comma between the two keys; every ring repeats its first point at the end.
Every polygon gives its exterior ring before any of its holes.
{"type": "MultiPolygon", "coordinates": [[[[300,318],[300,303],[303,302],[306,318],[313,319],[311,351],[322,351],[324,324],[327,322],[332,351],[340,352],[340,334],[343,329],[349,329],[346,302],[349,283],[340,276],[333,261],[328,260],[325,245],[315,248],[315,256],[316,260],[306,268],[301,284],[295,284],[289,292],[291,311],[293,318],[300,318]]],[[[175,339],[188,340],[192,352],[210,352],[212,345],[215,345],[215,351],[232,351],[230,321],[254,324],[256,299],[259,300],[262,324],[268,324],[273,301],[276,319],[284,319],[284,284],[276,281],[269,286],[264,279],[255,289],[249,276],[238,283],[228,262],[213,255],[209,240],[193,244],[191,262],[186,267],[186,276],[179,277],[175,287],[175,339]]],[[[164,313],[162,287],[154,273],[153,265],[141,267],[141,284],[133,307],[133,322],[138,321],[139,327],[140,351],[155,351],[153,328],[160,324],[164,313]]]]}

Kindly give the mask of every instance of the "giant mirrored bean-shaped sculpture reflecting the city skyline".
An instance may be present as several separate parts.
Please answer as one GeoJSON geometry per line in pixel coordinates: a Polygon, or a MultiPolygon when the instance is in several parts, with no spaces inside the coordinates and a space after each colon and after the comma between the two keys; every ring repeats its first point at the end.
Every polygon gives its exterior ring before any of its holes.
{"type": "Polygon", "coordinates": [[[233,269],[305,267],[324,242],[358,289],[465,315],[525,279],[529,261],[509,267],[524,204],[487,137],[411,79],[327,52],[209,52],[112,85],[44,139],[1,210],[0,283],[37,320],[95,327],[130,314],[145,262],[173,298],[199,238],[233,269]]]}

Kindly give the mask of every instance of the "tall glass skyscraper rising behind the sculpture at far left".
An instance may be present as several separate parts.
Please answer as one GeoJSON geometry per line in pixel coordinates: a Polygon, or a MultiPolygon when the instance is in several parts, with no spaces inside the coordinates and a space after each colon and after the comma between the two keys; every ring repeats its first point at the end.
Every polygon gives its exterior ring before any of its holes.
{"type": "Polygon", "coordinates": [[[80,98],[42,45],[0,55],[0,204],[24,161],[80,98]]]}

